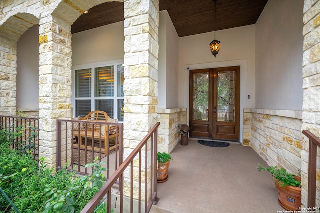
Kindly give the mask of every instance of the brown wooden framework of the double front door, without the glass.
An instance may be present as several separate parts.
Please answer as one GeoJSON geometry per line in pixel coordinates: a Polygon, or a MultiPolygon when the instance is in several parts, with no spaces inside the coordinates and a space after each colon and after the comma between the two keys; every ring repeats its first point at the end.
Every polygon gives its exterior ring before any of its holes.
{"type": "MultiPolygon", "coordinates": [[[[240,66],[228,66],[218,68],[195,69],[189,72],[189,125],[190,135],[193,137],[204,137],[213,139],[226,139],[226,140],[240,140],[240,66]],[[235,94],[234,105],[235,107],[235,122],[218,121],[215,117],[214,107],[218,107],[218,73],[235,71],[235,94]],[[208,74],[208,120],[193,120],[193,77],[194,74],[207,73],[208,74]],[[191,123],[192,121],[192,123],[191,123]],[[219,131],[218,131],[219,130],[219,131]]],[[[219,111],[219,109],[217,109],[219,111]]]]}

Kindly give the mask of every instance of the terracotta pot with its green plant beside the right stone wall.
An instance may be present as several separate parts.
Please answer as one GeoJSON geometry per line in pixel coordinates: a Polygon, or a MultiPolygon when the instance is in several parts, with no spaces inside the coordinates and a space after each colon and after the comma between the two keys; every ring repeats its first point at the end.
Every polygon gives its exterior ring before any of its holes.
{"type": "Polygon", "coordinates": [[[272,174],[278,191],[278,202],[286,210],[299,210],[301,208],[301,176],[288,173],[284,168],[271,166],[258,166],[258,171],[269,171],[272,174]]]}

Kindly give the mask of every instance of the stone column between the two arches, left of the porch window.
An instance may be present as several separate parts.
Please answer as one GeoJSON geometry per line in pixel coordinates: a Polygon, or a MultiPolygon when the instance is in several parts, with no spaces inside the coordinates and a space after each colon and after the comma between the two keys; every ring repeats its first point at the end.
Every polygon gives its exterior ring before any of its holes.
{"type": "Polygon", "coordinates": [[[71,25],[48,16],[39,33],[39,157],[55,166],[56,119],[71,117],[71,25]]]}

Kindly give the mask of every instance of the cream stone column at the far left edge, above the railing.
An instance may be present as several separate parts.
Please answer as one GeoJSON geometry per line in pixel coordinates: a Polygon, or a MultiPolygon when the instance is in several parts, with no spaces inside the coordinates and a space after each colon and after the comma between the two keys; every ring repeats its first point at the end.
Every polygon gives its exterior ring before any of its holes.
{"type": "Polygon", "coordinates": [[[16,112],[16,41],[0,37],[0,113],[16,112]]]}

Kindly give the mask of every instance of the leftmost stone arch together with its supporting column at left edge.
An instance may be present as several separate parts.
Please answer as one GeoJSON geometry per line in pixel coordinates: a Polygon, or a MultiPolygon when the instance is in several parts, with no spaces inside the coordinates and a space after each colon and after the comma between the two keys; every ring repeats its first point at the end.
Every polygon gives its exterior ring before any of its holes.
{"type": "Polygon", "coordinates": [[[17,42],[30,27],[39,23],[39,13],[35,10],[17,9],[11,16],[2,19],[0,25],[0,111],[4,115],[16,114],[17,42]]]}

